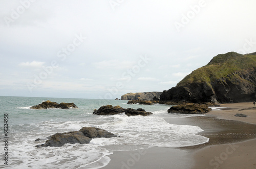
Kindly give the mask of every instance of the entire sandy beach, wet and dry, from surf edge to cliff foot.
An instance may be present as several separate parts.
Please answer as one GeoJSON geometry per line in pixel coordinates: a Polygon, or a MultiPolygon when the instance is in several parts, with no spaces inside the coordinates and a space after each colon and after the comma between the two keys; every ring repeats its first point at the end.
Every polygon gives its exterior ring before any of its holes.
{"type": "Polygon", "coordinates": [[[108,168],[256,168],[256,109],[250,103],[221,104],[221,110],[212,110],[203,117],[183,118],[172,124],[195,125],[210,138],[203,145],[164,148],[153,147],[137,151],[119,151],[109,155],[108,168]],[[237,113],[246,118],[235,117],[237,113]]]}

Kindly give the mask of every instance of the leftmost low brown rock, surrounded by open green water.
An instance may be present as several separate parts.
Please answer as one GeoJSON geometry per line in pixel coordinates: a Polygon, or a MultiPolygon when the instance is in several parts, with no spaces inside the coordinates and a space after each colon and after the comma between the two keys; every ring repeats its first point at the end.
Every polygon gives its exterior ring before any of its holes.
{"type": "Polygon", "coordinates": [[[47,100],[45,102],[42,102],[38,105],[34,105],[30,107],[32,109],[47,109],[47,108],[62,108],[62,109],[67,109],[67,108],[78,108],[74,103],[56,103],[56,102],[51,102],[50,100],[47,100]]]}

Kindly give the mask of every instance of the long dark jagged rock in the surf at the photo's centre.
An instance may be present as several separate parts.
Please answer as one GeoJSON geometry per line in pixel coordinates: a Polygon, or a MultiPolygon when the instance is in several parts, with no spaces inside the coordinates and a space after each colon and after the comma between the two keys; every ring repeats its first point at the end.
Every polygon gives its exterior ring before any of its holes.
{"type": "Polygon", "coordinates": [[[152,112],[147,112],[142,108],[133,109],[133,108],[122,108],[120,106],[104,105],[101,106],[98,110],[94,109],[93,115],[117,115],[123,113],[127,116],[147,116],[151,115],[152,112]]]}

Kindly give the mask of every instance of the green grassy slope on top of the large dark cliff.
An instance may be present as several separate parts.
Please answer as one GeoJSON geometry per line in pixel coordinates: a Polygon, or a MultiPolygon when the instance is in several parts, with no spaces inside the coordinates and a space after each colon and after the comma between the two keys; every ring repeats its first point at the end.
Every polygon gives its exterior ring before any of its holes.
{"type": "Polygon", "coordinates": [[[226,77],[229,74],[246,72],[253,68],[256,68],[256,52],[244,55],[236,52],[218,54],[207,65],[187,75],[177,86],[203,81],[210,83],[210,81],[226,77]]]}

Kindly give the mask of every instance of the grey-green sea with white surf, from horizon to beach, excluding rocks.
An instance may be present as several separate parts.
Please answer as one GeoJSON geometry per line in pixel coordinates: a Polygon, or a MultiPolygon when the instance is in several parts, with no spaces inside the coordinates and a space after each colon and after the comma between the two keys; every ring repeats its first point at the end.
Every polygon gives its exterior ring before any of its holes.
{"type": "MultiPolygon", "coordinates": [[[[197,135],[203,131],[197,126],[174,125],[165,118],[194,115],[168,114],[169,105],[126,104],[126,100],[69,99],[0,96],[1,140],[4,140],[4,114],[8,114],[8,165],[1,155],[0,168],[101,168],[110,162],[108,155],[115,151],[138,150],[150,147],[183,147],[208,142],[197,135]],[[43,101],[74,102],[78,109],[30,109],[43,101]],[[143,108],[153,115],[127,117],[92,115],[102,105],[120,105],[123,108],[143,108]],[[62,147],[35,148],[44,144],[46,137],[57,132],[98,127],[120,137],[95,138],[90,144],[65,144],[62,147]],[[40,138],[39,142],[35,139],[40,138]]],[[[203,116],[203,115],[198,115],[203,116]]],[[[1,152],[5,143],[1,141],[1,152]]],[[[4,154],[4,153],[3,153],[4,154]]]]}

